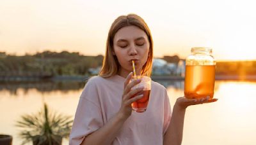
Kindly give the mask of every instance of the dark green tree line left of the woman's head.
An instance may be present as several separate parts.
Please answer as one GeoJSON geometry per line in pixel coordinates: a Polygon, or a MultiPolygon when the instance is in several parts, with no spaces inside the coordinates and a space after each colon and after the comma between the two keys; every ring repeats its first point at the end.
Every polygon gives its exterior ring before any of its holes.
{"type": "Polygon", "coordinates": [[[1,76],[86,75],[88,69],[102,66],[103,56],[84,56],[78,52],[38,52],[35,55],[0,53],[1,76]]]}

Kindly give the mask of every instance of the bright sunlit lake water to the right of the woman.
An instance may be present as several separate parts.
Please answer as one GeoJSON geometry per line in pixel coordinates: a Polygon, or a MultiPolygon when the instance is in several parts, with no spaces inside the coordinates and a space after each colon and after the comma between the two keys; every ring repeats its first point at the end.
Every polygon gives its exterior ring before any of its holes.
{"type": "MultiPolygon", "coordinates": [[[[256,83],[216,81],[214,90],[218,102],[188,107],[183,144],[256,144],[256,83]]],[[[172,106],[183,94],[168,86],[172,106]]]]}

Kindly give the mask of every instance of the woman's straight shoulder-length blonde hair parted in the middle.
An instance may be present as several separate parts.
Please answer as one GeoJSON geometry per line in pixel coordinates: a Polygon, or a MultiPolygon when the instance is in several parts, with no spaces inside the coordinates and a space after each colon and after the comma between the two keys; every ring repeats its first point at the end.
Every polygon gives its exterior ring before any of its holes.
{"type": "Polygon", "coordinates": [[[116,58],[116,56],[113,54],[114,48],[113,48],[113,39],[115,37],[116,32],[121,29],[122,27],[127,27],[130,25],[134,25],[136,27],[139,27],[141,30],[143,30],[147,36],[148,41],[150,43],[149,46],[149,52],[148,52],[148,59],[145,65],[141,69],[141,75],[147,75],[150,76],[152,71],[152,60],[153,60],[153,40],[152,35],[150,32],[150,29],[148,28],[148,25],[138,15],[135,14],[129,14],[129,15],[122,15],[113,22],[111,25],[109,32],[108,32],[108,39],[106,44],[106,54],[104,56],[102,69],[99,73],[99,76],[102,76],[103,78],[109,78],[115,74],[117,74],[118,70],[120,69],[120,64],[116,58]]]}

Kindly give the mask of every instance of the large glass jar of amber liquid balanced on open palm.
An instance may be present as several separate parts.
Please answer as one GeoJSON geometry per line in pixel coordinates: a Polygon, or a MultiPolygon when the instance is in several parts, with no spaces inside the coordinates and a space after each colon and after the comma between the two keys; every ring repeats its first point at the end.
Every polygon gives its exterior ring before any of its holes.
{"type": "Polygon", "coordinates": [[[184,95],[188,99],[210,99],[214,95],[216,60],[212,49],[204,47],[191,48],[191,55],[186,58],[184,95]]]}

